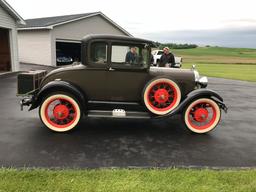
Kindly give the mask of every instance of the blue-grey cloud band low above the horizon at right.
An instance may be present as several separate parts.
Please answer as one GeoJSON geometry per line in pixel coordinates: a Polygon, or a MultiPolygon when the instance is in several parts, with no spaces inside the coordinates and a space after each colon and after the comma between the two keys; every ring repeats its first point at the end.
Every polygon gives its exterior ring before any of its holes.
{"type": "Polygon", "coordinates": [[[138,36],[163,43],[195,43],[199,45],[256,48],[256,27],[162,31],[138,34],[138,36]]]}

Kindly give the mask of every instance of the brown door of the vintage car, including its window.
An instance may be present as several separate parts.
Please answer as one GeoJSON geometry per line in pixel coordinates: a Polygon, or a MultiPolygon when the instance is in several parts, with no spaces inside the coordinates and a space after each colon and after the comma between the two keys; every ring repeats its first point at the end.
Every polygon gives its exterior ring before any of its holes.
{"type": "Polygon", "coordinates": [[[142,98],[143,88],[149,78],[148,55],[144,54],[141,63],[129,63],[126,59],[132,46],[137,48],[137,54],[142,57],[143,48],[139,45],[111,46],[110,66],[107,72],[107,96],[110,101],[138,102],[142,98]]]}

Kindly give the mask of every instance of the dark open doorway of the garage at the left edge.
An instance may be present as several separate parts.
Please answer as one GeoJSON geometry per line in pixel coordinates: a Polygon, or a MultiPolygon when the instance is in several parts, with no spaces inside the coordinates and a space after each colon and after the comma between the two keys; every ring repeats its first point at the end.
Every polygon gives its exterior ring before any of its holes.
{"type": "Polygon", "coordinates": [[[9,30],[0,28],[0,71],[11,70],[9,30]]]}

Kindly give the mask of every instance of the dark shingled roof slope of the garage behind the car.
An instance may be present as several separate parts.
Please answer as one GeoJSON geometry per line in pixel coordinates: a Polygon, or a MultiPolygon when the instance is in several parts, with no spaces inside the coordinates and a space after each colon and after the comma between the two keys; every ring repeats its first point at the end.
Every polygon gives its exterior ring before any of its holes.
{"type": "Polygon", "coordinates": [[[81,17],[87,17],[95,14],[100,14],[100,12],[92,12],[92,13],[83,13],[83,14],[75,14],[75,15],[63,15],[63,16],[55,16],[55,17],[44,17],[44,18],[35,18],[35,19],[27,19],[26,25],[19,25],[19,28],[30,28],[30,27],[47,27],[51,25],[55,25],[58,23],[79,19],[81,17]]]}

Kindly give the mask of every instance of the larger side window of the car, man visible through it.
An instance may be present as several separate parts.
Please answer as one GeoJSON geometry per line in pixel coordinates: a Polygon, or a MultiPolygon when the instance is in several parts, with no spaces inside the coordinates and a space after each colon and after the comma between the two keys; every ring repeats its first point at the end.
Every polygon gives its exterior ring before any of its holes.
{"type": "Polygon", "coordinates": [[[119,66],[147,65],[149,51],[143,45],[112,45],[111,63],[119,66]]]}

